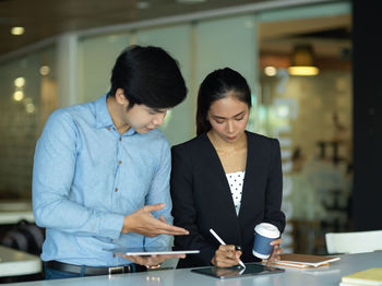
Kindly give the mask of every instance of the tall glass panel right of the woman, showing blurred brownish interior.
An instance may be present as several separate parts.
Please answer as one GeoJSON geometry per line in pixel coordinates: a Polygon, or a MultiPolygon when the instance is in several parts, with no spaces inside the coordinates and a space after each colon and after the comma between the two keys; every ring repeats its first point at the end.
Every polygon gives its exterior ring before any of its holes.
{"type": "MultiPolygon", "coordinates": [[[[348,3],[259,14],[261,127],[282,146],[283,245],[326,253],[325,233],[351,230],[351,19],[348,3]],[[317,75],[294,75],[309,46],[317,75]]],[[[308,64],[306,64],[308,65],[308,64]]]]}

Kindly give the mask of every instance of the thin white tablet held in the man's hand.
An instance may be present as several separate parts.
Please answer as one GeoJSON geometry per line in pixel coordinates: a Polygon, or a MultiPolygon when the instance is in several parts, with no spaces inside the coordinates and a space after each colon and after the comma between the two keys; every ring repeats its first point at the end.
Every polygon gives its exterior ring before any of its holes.
{"type": "Polygon", "coordinates": [[[104,249],[112,253],[121,253],[124,255],[168,255],[168,254],[195,254],[200,250],[171,250],[169,248],[155,248],[155,247],[145,247],[145,248],[111,248],[104,249]]]}

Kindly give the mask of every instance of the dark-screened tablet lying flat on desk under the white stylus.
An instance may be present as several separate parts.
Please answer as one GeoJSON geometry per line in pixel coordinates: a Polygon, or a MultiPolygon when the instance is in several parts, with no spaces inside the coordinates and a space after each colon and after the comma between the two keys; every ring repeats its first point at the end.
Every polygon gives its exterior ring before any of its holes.
{"type": "Polygon", "coordinates": [[[216,278],[225,279],[225,278],[242,277],[242,276],[249,276],[249,275],[273,274],[273,273],[284,272],[285,270],[268,267],[260,264],[247,263],[246,269],[242,269],[241,266],[232,266],[228,269],[220,269],[220,267],[213,266],[213,267],[194,269],[191,271],[199,274],[204,274],[216,278]]]}

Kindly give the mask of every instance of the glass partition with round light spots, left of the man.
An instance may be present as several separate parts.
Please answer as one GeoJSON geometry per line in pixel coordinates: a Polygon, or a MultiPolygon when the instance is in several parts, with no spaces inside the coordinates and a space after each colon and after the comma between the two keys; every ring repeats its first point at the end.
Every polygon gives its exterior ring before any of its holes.
{"type": "Polygon", "coordinates": [[[55,48],[0,65],[0,198],[29,199],[36,140],[57,107],[55,48]]]}

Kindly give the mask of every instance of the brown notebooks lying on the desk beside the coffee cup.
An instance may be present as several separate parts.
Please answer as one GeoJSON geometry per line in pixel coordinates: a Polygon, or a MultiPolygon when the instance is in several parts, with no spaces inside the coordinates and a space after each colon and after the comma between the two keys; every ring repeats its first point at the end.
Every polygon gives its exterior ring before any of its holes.
{"type": "Polygon", "coordinates": [[[331,262],[337,260],[339,260],[338,257],[285,253],[280,254],[280,260],[272,263],[272,265],[296,269],[310,269],[325,266],[329,265],[331,262]]]}

